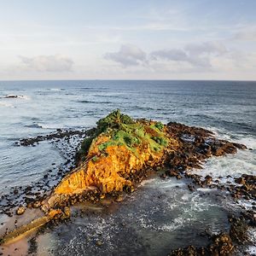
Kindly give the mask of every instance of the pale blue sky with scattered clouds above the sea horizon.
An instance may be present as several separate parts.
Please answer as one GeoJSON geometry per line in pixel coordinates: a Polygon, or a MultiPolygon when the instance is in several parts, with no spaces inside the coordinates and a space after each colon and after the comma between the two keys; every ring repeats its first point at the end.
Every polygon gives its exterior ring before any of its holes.
{"type": "Polygon", "coordinates": [[[0,80],[256,80],[255,0],[0,0],[0,80]]]}

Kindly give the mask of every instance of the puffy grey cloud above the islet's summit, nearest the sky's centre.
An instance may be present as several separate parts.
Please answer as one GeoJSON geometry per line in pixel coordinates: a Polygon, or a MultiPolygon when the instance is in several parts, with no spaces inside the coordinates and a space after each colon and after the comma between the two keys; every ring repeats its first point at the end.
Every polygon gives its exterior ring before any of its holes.
{"type": "Polygon", "coordinates": [[[146,53],[133,44],[121,45],[119,51],[109,52],[104,57],[107,60],[120,63],[123,67],[137,66],[147,61],[146,53]]]}

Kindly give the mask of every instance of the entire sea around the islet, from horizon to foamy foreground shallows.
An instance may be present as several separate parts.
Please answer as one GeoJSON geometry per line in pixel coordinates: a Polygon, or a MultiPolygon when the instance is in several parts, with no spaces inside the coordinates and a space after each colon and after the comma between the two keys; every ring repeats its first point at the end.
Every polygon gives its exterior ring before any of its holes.
{"type": "MultiPolygon", "coordinates": [[[[252,149],[212,157],[195,171],[201,175],[222,176],[223,182],[229,175],[256,175],[256,82],[0,81],[0,195],[40,181],[53,162],[64,161],[52,143],[17,147],[20,138],[91,128],[117,108],[133,118],[204,127],[252,149]]],[[[40,236],[38,255],[165,255],[191,243],[204,245],[201,232],[227,230],[228,212],[239,208],[217,201],[214,193],[191,193],[186,181],[153,177],[114,209],[99,208],[40,236]]],[[[256,253],[253,246],[241,250],[256,253]]]]}

